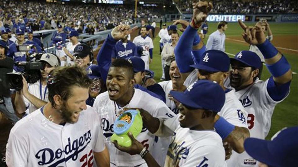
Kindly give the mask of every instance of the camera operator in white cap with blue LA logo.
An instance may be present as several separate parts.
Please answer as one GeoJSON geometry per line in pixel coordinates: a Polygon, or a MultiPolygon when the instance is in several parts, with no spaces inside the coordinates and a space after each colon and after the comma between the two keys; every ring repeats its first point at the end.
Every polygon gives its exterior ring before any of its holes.
{"type": "Polygon", "coordinates": [[[41,62],[44,68],[40,70],[41,78],[33,84],[28,84],[23,77],[23,88],[16,93],[15,105],[18,113],[31,113],[43,105],[47,104],[47,75],[60,66],[59,58],[51,53],[45,53],[41,56],[41,62]],[[24,97],[25,98],[24,98],[24,97]],[[29,107],[29,110],[26,110],[29,107]]]}

